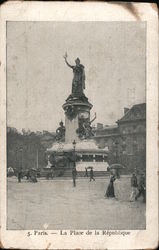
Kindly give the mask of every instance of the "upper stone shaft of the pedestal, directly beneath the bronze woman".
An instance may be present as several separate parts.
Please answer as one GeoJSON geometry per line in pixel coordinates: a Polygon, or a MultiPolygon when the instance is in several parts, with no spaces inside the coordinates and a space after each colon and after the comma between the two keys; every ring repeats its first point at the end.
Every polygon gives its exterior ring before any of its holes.
{"type": "Polygon", "coordinates": [[[88,102],[85,97],[81,98],[68,98],[63,105],[65,111],[65,142],[72,143],[80,141],[80,127],[84,122],[90,122],[90,110],[92,104],[88,102]]]}

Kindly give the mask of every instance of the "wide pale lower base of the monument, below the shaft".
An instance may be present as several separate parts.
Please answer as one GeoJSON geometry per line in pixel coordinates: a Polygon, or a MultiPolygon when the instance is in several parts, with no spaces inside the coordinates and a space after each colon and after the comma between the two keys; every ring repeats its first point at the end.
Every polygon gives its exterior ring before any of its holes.
{"type": "MultiPolygon", "coordinates": [[[[79,173],[85,172],[86,168],[90,167],[98,172],[98,175],[107,172],[108,148],[99,149],[93,139],[78,141],[75,149],[72,143],[54,143],[50,149],[47,149],[47,154],[50,155],[49,158],[51,155],[57,159],[61,158],[60,168],[63,169],[63,173],[72,169],[74,161],[76,161],[76,170],[79,173]]],[[[58,168],[58,162],[56,160],[55,162],[58,168]]]]}

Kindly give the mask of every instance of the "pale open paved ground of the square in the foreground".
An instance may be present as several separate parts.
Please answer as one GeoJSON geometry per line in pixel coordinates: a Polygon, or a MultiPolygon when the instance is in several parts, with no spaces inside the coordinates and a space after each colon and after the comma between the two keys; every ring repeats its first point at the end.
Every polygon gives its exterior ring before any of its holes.
{"type": "Polygon", "coordinates": [[[38,180],[8,178],[8,229],[145,229],[142,198],[129,202],[130,178],[115,182],[115,199],[105,199],[109,178],[38,180]]]}

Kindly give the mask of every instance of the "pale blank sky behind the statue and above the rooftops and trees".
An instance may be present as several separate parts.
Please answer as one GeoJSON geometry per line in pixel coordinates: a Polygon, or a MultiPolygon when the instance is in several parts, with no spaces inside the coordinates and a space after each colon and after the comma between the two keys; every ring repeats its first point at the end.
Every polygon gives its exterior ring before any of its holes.
{"type": "Polygon", "coordinates": [[[124,107],[146,101],[145,22],[8,22],[7,125],[55,131],[65,120],[70,64],[85,66],[91,117],[115,124],[124,107]]]}

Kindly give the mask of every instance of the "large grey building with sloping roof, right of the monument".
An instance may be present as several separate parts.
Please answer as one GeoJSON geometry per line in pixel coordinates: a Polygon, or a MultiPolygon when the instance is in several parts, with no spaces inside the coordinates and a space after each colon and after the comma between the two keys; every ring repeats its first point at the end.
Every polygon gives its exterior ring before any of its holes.
{"type": "Polygon", "coordinates": [[[94,129],[100,148],[108,146],[111,161],[125,164],[128,170],[146,167],[146,103],[124,108],[117,125],[94,129]]]}

